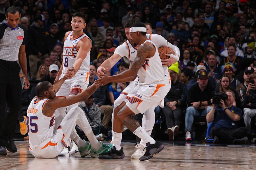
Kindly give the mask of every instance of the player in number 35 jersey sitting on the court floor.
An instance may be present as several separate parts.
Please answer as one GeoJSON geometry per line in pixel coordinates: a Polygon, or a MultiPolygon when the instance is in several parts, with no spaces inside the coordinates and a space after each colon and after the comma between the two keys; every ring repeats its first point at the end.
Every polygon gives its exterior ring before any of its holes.
{"type": "MultiPolygon", "coordinates": [[[[72,70],[68,69],[69,72],[72,70]]],[[[37,97],[31,101],[27,110],[29,152],[35,158],[54,158],[58,156],[63,148],[67,147],[69,137],[78,145],[81,157],[91,154],[93,158],[97,158],[111,147],[95,138],[90,123],[80,107],[73,107],[63,120],[60,118],[57,108],[67,107],[83,101],[98,88],[93,84],[80,94],[67,98],[56,97],[56,92],[66,78],[69,78],[69,76],[65,75],[54,85],[47,81],[36,85],[37,97]],[[91,144],[80,139],[73,131],[76,124],[83,129],[91,144]]]]}

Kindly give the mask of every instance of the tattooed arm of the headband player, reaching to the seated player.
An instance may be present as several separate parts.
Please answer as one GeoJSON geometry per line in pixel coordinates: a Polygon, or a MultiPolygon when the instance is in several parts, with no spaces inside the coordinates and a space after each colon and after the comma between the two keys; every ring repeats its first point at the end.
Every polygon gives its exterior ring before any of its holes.
{"type": "Polygon", "coordinates": [[[97,85],[105,85],[109,82],[124,83],[134,80],[137,77],[137,72],[144,64],[147,57],[151,57],[151,53],[155,54],[155,47],[151,43],[141,44],[138,48],[137,56],[132,62],[131,67],[124,72],[114,76],[104,76],[95,81],[97,85]]]}

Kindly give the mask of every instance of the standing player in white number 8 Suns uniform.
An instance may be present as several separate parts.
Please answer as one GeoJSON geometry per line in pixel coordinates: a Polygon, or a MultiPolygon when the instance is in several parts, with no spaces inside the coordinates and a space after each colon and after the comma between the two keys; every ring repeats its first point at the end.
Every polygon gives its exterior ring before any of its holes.
{"type": "MultiPolygon", "coordinates": [[[[74,13],[71,21],[72,31],[65,34],[63,62],[55,82],[59,78],[63,78],[66,72],[71,78],[66,80],[61,86],[59,92],[56,94],[59,97],[68,97],[81,93],[89,84],[88,76],[92,41],[83,31],[86,26],[85,19],[86,16],[84,14],[79,12],[74,13]],[[74,67],[76,72],[68,71],[70,67],[74,67]]],[[[75,103],[68,106],[68,111],[78,105],[79,103],[75,103]]],[[[66,115],[65,110],[66,107],[58,109],[63,118],[66,115]]],[[[73,147],[76,148],[75,144],[73,144],[73,147]]],[[[61,155],[69,155],[68,148],[65,148],[61,155]]]]}

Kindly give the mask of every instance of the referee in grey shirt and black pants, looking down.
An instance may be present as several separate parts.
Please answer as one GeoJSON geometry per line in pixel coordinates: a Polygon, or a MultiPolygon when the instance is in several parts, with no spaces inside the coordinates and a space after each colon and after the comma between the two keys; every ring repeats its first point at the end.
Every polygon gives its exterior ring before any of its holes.
{"type": "Polygon", "coordinates": [[[17,152],[12,137],[21,109],[20,67],[24,74],[23,88],[29,88],[25,53],[26,28],[19,24],[20,11],[17,7],[9,7],[5,17],[6,22],[0,24],[0,155],[7,155],[6,149],[17,152]],[[7,115],[6,103],[10,110],[7,115]]]}

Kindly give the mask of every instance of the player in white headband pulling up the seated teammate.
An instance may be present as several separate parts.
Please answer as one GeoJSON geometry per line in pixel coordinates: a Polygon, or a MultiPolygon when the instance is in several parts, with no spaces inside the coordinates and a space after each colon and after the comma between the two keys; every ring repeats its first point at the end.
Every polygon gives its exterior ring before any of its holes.
{"type": "Polygon", "coordinates": [[[132,96],[128,100],[129,102],[122,102],[116,107],[113,122],[114,146],[109,152],[99,156],[100,159],[124,158],[121,147],[124,125],[146,143],[146,152],[140,157],[140,160],[148,160],[164,148],[164,145],[150,137],[132,116],[144,113],[152,106],[161,105],[161,107],[164,107],[162,99],[171,88],[170,80],[167,81],[164,76],[164,68],[162,67],[158,48],[146,36],[146,26],[142,22],[132,24],[130,35],[132,41],[140,45],[131,68],[115,76],[105,75],[95,81],[98,85],[105,85],[108,82],[121,83],[135,80],[138,75],[139,83],[127,95],[132,96]],[[116,113],[118,113],[117,116],[116,113]]]}

